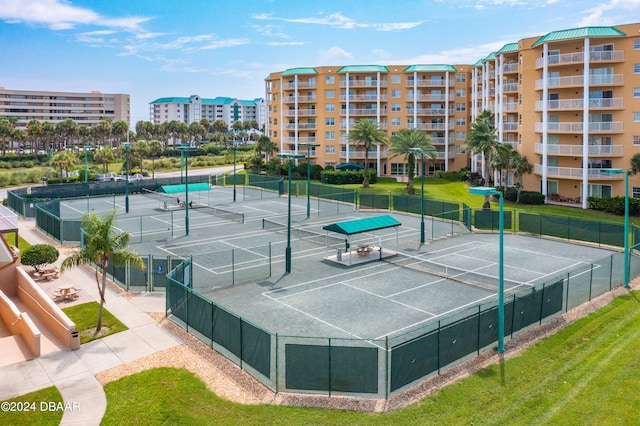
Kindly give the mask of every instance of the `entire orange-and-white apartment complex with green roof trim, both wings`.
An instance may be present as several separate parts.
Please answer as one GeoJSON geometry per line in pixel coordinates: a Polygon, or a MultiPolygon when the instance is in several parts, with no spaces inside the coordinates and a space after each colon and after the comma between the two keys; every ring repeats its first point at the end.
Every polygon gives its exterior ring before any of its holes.
{"type": "MultiPolygon", "coordinates": [[[[362,163],[347,134],[371,118],[389,136],[425,130],[438,150],[432,170],[480,172],[484,160],[464,140],[490,110],[498,140],[533,165],[523,187],[586,208],[590,195],[624,195],[624,174],[607,170],[629,170],[640,153],[640,24],[554,31],[473,65],[294,68],[271,73],[265,89],[267,134],[284,152],[319,144],[311,161],[323,166],[362,163]]],[[[388,148],[369,159],[380,175],[406,173],[388,148]]],[[[503,179],[513,183],[513,173],[503,179]]],[[[630,176],[630,195],[640,198],[640,177],[630,176]]]]}

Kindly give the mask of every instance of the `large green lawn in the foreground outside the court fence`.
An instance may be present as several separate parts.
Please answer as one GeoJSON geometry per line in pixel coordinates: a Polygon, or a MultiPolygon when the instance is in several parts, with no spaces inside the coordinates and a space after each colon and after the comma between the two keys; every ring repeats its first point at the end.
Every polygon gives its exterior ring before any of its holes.
{"type": "Polygon", "coordinates": [[[502,365],[396,412],[235,404],[190,372],[163,368],[106,385],[104,424],[638,424],[638,295],[619,297],[502,365]]]}

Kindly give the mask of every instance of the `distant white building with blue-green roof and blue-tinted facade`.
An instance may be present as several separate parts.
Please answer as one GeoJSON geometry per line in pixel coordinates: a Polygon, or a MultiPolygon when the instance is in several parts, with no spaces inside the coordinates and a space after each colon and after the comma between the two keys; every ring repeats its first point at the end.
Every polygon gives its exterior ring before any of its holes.
{"type": "Polygon", "coordinates": [[[262,98],[240,100],[217,97],[213,99],[193,95],[188,98],[160,98],[149,103],[149,118],[153,124],[181,121],[187,124],[203,118],[210,123],[222,120],[229,128],[234,121],[256,120],[260,129],[266,123],[266,102],[262,98]]]}

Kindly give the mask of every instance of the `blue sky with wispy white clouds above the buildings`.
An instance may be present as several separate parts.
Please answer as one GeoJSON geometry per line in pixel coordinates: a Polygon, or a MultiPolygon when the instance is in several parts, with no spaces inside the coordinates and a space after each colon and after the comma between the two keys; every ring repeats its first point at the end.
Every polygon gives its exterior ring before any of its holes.
{"type": "Polygon", "coordinates": [[[300,66],[474,63],[550,31],[640,21],[640,0],[0,0],[0,86],[264,96],[300,66]]]}

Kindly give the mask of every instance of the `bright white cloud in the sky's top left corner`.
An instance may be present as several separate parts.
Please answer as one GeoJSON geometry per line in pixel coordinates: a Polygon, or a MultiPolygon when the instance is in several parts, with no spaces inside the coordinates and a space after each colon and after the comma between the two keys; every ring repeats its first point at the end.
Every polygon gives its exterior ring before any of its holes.
{"type": "Polygon", "coordinates": [[[0,0],[0,19],[8,23],[45,25],[52,30],[68,30],[77,25],[138,30],[150,18],[103,17],[91,9],[73,6],[63,0],[0,0]]]}

